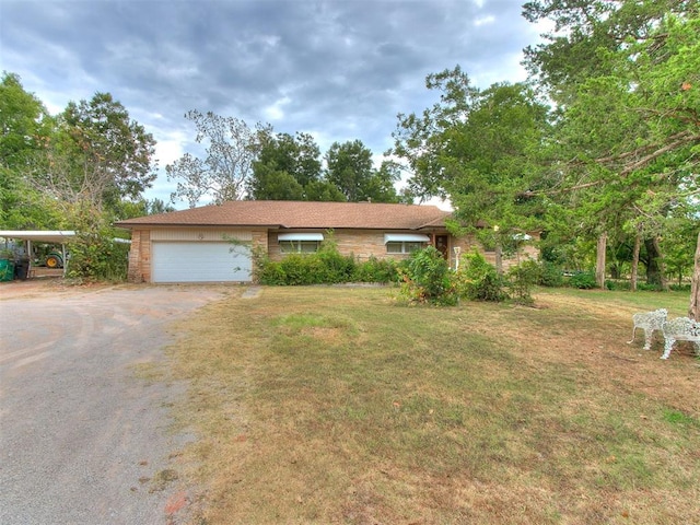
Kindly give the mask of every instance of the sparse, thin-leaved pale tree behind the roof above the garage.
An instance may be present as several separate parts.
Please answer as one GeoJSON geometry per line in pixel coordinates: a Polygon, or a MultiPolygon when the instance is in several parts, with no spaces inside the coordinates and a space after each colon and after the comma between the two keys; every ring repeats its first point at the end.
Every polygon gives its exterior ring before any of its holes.
{"type": "Polygon", "coordinates": [[[207,147],[202,158],[185,153],[165,166],[167,178],[177,182],[171,199],[187,200],[190,208],[202,198],[214,203],[242,199],[260,149],[260,133],[268,127],[250,128],[238,118],[197,109],[187,112],[185,118],[195,124],[195,140],[207,147]]]}

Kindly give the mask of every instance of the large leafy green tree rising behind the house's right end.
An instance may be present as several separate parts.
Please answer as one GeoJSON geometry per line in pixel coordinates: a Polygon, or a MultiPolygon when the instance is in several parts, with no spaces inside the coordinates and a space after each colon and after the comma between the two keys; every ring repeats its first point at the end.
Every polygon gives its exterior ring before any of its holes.
{"type": "Polygon", "coordinates": [[[459,67],[430,74],[440,102],[422,115],[399,115],[394,154],[411,172],[419,197],[450,197],[469,229],[489,225],[497,246],[541,228],[544,198],[535,195],[538,155],[549,135],[548,108],[525,84],[479,90],[459,67]]]}

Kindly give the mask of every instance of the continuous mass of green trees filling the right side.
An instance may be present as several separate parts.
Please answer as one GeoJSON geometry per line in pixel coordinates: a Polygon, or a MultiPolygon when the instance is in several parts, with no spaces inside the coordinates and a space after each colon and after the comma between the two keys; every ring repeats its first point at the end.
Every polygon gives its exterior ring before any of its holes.
{"type": "MultiPolygon", "coordinates": [[[[528,83],[482,90],[457,66],[427,77],[436,104],[399,115],[393,153],[411,190],[450,197],[455,233],[493,226],[478,232],[497,254],[523,230],[540,231],[544,260],[595,268],[594,287],[627,275],[634,289],[640,268],[661,289],[692,276],[689,314],[700,317],[698,3],[523,9],[552,27],[526,49],[528,83]]],[[[580,276],[574,284],[587,287],[580,276]]]]}

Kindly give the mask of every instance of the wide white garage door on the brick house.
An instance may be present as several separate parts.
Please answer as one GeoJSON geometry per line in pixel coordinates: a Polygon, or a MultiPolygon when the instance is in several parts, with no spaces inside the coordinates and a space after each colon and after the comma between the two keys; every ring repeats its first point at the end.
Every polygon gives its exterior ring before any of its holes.
{"type": "Polygon", "coordinates": [[[153,282],[250,281],[250,248],[231,243],[153,242],[153,282]]]}

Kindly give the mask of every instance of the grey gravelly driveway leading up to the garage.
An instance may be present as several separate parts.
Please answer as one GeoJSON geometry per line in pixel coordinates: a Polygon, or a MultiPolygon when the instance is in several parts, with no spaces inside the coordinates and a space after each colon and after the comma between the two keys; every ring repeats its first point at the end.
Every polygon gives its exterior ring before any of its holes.
{"type": "Polygon", "coordinates": [[[139,371],[233,290],[36,281],[0,283],[0,523],[180,523],[186,492],[165,481],[184,387],[139,371]]]}

